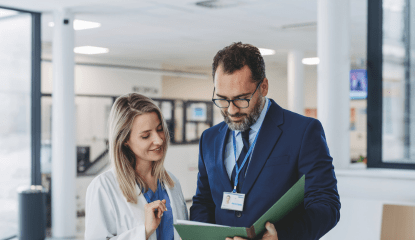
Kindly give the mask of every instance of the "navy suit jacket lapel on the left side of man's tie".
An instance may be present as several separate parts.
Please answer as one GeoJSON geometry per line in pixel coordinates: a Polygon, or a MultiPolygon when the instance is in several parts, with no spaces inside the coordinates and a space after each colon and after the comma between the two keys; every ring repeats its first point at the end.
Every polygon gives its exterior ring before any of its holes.
{"type": "Polygon", "coordinates": [[[226,140],[228,139],[229,132],[228,125],[225,124],[219,130],[219,134],[215,139],[215,166],[217,166],[219,177],[221,178],[225,191],[231,191],[233,188],[226,172],[224,159],[226,140]]]}

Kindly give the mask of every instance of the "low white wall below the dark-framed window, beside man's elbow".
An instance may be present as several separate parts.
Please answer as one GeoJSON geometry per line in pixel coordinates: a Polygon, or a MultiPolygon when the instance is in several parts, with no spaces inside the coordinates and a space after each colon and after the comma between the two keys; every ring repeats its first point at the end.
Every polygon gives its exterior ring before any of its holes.
{"type": "Polygon", "coordinates": [[[384,204],[415,206],[414,171],[338,170],[336,176],[340,222],[322,240],[379,240],[384,204]]]}

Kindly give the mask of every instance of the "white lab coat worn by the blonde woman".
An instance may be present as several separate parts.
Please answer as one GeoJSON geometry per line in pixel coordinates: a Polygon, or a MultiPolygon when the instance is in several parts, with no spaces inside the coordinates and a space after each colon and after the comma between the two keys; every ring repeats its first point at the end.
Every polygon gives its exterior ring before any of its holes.
{"type": "MultiPolygon", "coordinates": [[[[176,177],[169,172],[174,187],[166,186],[173,211],[173,223],[178,219],[187,220],[188,213],[182,189],[176,177]]],[[[141,193],[136,185],[137,193],[141,193]]],[[[115,171],[110,169],[98,175],[86,192],[85,204],[85,240],[145,240],[144,205],[147,200],[143,194],[138,196],[138,203],[129,203],[121,192],[115,171]]],[[[174,240],[179,240],[174,229],[174,240]]],[[[156,231],[149,240],[157,240],[156,231]]]]}

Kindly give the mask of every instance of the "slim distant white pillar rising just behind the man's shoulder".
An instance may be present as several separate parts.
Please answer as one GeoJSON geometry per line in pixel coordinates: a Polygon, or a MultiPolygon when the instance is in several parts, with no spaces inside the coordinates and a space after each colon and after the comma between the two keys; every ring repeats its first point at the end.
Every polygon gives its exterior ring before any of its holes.
{"type": "Polygon", "coordinates": [[[288,110],[304,115],[304,67],[303,53],[293,50],[288,53],[288,110]]]}

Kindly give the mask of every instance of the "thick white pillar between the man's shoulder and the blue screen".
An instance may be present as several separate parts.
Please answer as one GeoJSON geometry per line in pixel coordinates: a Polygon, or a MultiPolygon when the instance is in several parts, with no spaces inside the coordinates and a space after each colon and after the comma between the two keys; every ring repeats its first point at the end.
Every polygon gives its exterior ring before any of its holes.
{"type": "Polygon", "coordinates": [[[337,169],[350,164],[349,0],[317,2],[317,116],[337,169]]]}

